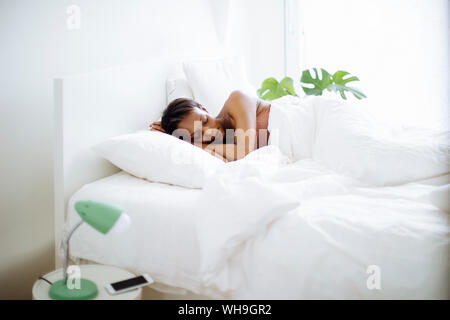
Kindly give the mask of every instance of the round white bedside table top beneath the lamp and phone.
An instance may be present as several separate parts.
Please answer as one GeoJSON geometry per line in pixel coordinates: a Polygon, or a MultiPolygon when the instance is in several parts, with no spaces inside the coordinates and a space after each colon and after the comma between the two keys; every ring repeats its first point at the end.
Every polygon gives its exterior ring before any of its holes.
{"type": "MultiPolygon", "coordinates": [[[[94,281],[98,287],[98,295],[95,300],[139,300],[142,295],[142,288],[134,289],[132,291],[120,293],[117,295],[110,295],[105,285],[111,282],[117,282],[136,275],[113,266],[105,266],[100,264],[82,264],[80,265],[81,277],[94,281]]],[[[44,275],[44,278],[50,282],[55,282],[62,279],[62,269],[57,269],[44,275]]],[[[50,285],[44,280],[37,280],[33,285],[33,300],[51,300],[48,295],[50,285]]]]}

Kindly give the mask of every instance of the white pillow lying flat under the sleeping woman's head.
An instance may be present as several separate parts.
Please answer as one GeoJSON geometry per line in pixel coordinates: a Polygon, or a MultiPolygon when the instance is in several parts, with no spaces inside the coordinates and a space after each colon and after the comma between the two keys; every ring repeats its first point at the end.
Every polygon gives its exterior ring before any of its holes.
{"type": "Polygon", "coordinates": [[[202,188],[225,164],[199,147],[157,131],[109,138],[94,150],[136,177],[188,188],[202,188]]]}

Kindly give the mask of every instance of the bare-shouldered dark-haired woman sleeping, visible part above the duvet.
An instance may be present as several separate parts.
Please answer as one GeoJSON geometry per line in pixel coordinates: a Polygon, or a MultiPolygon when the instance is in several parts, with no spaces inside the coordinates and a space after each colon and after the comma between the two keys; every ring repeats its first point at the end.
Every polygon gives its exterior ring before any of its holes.
{"type": "Polygon", "coordinates": [[[233,91],[216,117],[192,99],[179,98],[164,110],[151,130],[174,135],[224,161],[242,159],[266,146],[270,103],[233,91]]]}

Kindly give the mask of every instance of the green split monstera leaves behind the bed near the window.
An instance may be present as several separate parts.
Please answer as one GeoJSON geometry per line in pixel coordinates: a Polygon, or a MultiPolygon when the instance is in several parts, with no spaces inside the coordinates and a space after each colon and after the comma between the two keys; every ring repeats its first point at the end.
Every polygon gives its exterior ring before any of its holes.
{"type": "MultiPolygon", "coordinates": [[[[347,71],[336,71],[331,75],[325,69],[320,69],[320,77],[317,68],[313,68],[314,75],[311,74],[311,70],[306,69],[302,71],[300,78],[300,84],[306,95],[321,96],[326,89],[330,92],[339,93],[342,99],[346,100],[346,92],[350,92],[357,99],[366,98],[366,95],[355,87],[347,86],[347,83],[353,81],[359,81],[356,76],[349,76],[347,71]],[[308,87],[305,85],[310,85],[308,87]]],[[[264,100],[275,100],[285,95],[297,96],[294,89],[293,80],[289,77],[285,77],[280,82],[275,78],[267,78],[263,81],[261,88],[257,91],[258,96],[264,100]]]]}

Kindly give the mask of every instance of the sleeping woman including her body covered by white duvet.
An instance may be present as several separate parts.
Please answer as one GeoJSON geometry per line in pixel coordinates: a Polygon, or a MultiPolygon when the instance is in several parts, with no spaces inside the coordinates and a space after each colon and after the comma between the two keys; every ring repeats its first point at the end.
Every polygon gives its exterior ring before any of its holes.
{"type": "Polygon", "coordinates": [[[224,161],[270,144],[293,162],[312,159],[379,186],[449,173],[449,131],[391,127],[366,109],[323,97],[286,96],[270,104],[233,91],[217,117],[194,100],[180,98],[150,127],[224,161]]]}

